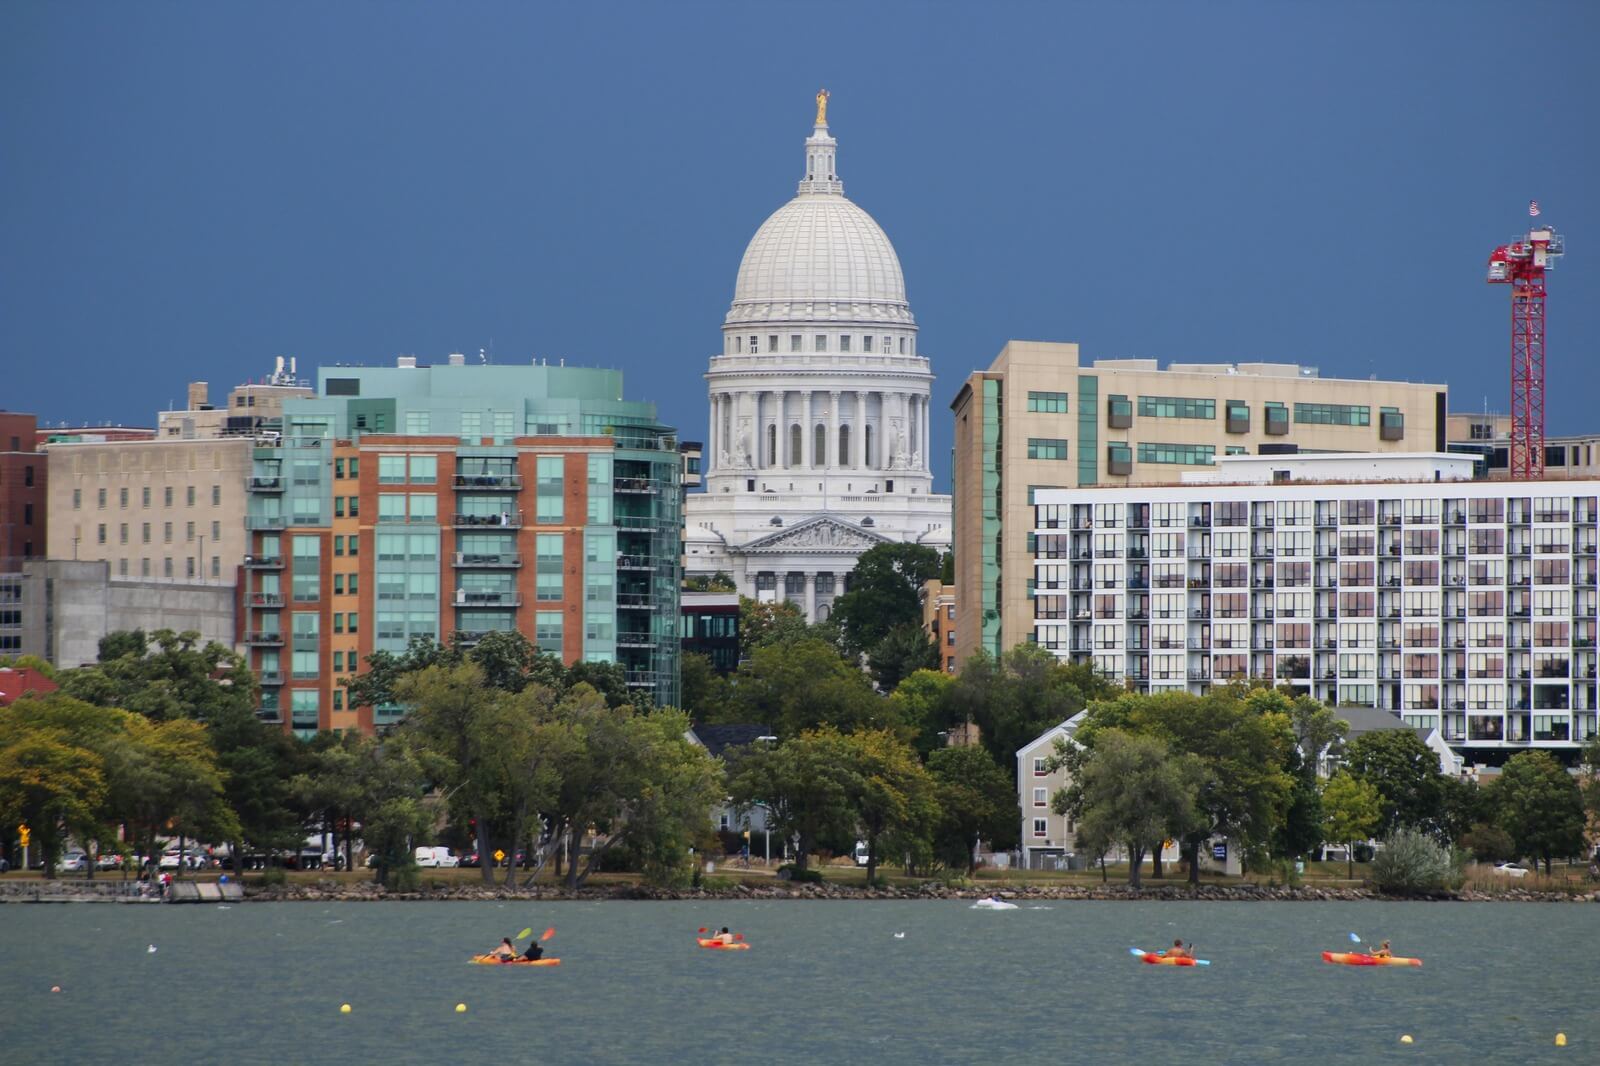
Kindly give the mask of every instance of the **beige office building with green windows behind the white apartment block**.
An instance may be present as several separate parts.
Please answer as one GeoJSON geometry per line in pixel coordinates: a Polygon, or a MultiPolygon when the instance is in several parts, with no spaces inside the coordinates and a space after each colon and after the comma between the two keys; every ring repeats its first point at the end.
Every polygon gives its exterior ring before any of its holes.
{"type": "Polygon", "coordinates": [[[952,461],[955,661],[1029,639],[1034,491],[1160,485],[1226,455],[1443,451],[1445,386],[1294,363],[1078,362],[1011,341],[962,384],[952,461]]]}

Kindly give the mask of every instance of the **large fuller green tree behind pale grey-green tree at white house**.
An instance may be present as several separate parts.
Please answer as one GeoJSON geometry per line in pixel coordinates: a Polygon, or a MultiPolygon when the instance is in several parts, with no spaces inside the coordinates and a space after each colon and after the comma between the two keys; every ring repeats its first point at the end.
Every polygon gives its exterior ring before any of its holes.
{"type": "Polygon", "coordinates": [[[1096,730],[1120,728],[1200,757],[1205,781],[1198,807],[1206,818],[1184,837],[1190,884],[1200,880],[1200,847],[1208,837],[1227,837],[1246,853],[1264,850],[1293,792],[1294,779],[1285,770],[1294,744],[1288,715],[1272,709],[1274,701],[1248,696],[1250,690],[1237,685],[1205,696],[1123,693],[1094,703],[1077,730],[1078,743],[1088,747],[1096,730]]]}

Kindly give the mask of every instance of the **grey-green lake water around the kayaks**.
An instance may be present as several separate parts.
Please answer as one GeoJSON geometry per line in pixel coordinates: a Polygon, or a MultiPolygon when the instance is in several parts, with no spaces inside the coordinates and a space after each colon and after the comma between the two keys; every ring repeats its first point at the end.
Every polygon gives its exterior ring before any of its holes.
{"type": "Polygon", "coordinates": [[[1597,978],[1592,904],[10,904],[0,1061],[1597,1063],[1597,978]],[[466,965],[530,925],[560,967],[466,965]]]}

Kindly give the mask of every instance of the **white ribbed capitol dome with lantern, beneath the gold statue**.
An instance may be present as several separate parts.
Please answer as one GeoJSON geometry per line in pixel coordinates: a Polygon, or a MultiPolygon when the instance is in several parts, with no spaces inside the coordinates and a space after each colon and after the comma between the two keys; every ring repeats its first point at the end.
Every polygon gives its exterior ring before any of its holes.
{"type": "Polygon", "coordinates": [[[914,327],[906,277],[888,234],[845,198],[837,142],[826,125],[806,139],[798,194],[762,222],[744,250],[726,327],[862,323],[914,327]]]}

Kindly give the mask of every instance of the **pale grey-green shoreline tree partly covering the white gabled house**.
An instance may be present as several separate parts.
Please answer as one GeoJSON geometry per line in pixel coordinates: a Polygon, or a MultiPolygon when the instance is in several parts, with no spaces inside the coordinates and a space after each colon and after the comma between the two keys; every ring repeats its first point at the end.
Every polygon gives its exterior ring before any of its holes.
{"type": "Polygon", "coordinates": [[[1078,837],[1090,850],[1104,853],[1107,842],[1122,844],[1128,884],[1138,888],[1147,852],[1206,824],[1197,805],[1205,775],[1197,755],[1174,752],[1155,736],[1109,728],[1094,735],[1080,776],[1051,805],[1058,813],[1082,810],[1078,837]]]}

